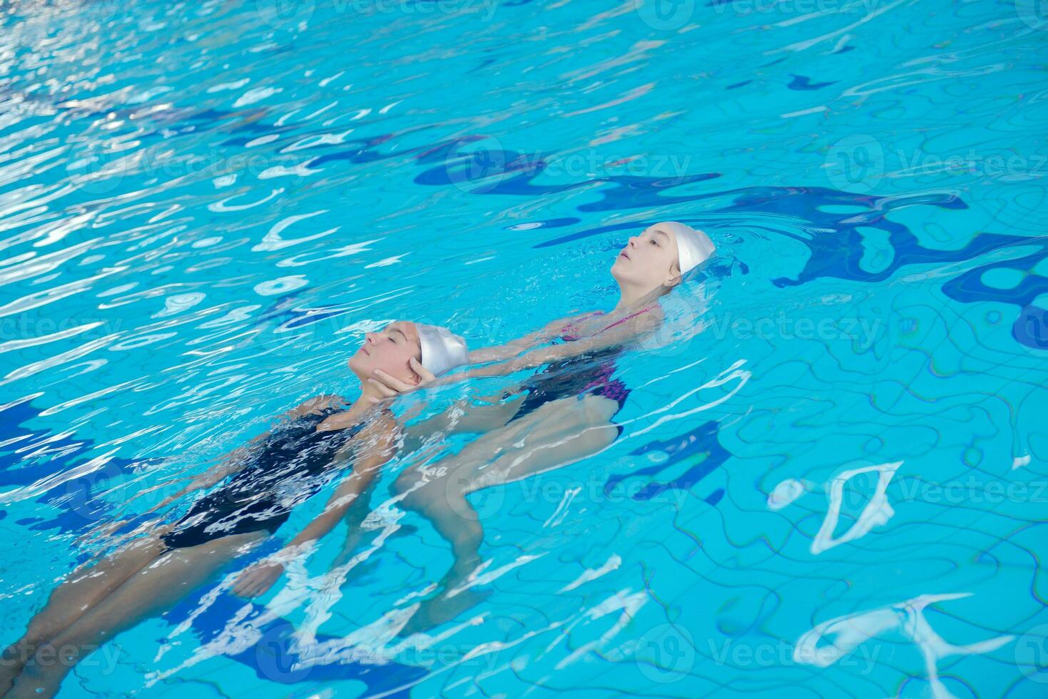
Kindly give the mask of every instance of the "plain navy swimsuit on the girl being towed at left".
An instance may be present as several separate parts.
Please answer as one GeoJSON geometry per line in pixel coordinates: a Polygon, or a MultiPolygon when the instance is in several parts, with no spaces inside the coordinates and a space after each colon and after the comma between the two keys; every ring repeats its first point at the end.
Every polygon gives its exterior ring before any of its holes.
{"type": "Polygon", "coordinates": [[[364,423],[316,431],[324,418],[340,410],[330,407],[298,417],[252,445],[247,455],[250,462],[197,500],[161,541],[168,548],[184,548],[230,534],[276,532],[292,507],[343,471],[330,468],[331,461],[364,423]]]}

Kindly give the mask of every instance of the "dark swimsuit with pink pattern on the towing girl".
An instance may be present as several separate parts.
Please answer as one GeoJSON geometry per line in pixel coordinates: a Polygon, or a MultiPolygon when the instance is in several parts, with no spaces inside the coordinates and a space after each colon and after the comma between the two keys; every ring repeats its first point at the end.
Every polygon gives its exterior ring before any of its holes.
{"type": "MultiPolygon", "coordinates": [[[[651,307],[649,306],[636,313],[627,315],[602,328],[596,334],[626,323],[649,310],[649,308],[651,307]]],[[[590,316],[603,314],[604,311],[598,310],[590,313],[590,316]]],[[[583,338],[582,335],[570,331],[573,327],[574,325],[572,324],[561,329],[560,337],[562,341],[570,343],[583,338]]],[[[611,398],[618,402],[618,409],[621,410],[626,403],[626,396],[630,395],[630,390],[626,388],[626,384],[612,376],[616,370],[615,359],[618,358],[618,355],[624,350],[625,348],[621,345],[612,345],[549,363],[545,369],[524,383],[523,386],[527,390],[528,395],[524,398],[524,402],[521,403],[520,408],[517,409],[517,413],[509,419],[509,422],[527,415],[539,406],[547,403],[550,400],[569,397],[582,398],[586,395],[598,395],[611,398]]],[[[623,429],[619,428],[618,431],[621,433],[623,429]]]]}

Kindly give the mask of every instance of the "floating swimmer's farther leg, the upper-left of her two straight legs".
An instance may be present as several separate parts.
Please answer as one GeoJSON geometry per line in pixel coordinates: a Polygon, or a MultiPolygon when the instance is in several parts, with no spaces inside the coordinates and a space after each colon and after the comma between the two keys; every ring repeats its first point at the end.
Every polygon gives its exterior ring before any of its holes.
{"type": "Polygon", "coordinates": [[[29,620],[25,634],[4,650],[0,657],[0,695],[10,687],[41,645],[67,629],[88,609],[155,561],[163,548],[158,539],[139,539],[94,565],[73,571],[29,620]]]}

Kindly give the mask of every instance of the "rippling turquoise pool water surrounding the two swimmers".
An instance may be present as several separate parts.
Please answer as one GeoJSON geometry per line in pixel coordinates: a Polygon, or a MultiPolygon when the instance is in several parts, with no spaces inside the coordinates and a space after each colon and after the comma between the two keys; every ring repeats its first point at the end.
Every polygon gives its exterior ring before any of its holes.
{"type": "Polygon", "coordinates": [[[396,635],[450,563],[385,501],[405,455],[346,580],[336,529],[61,696],[1048,692],[1043,2],[0,12],[3,643],[364,331],[506,341],[610,307],[652,222],[719,246],[621,438],[475,499],[482,604],[396,635]]]}

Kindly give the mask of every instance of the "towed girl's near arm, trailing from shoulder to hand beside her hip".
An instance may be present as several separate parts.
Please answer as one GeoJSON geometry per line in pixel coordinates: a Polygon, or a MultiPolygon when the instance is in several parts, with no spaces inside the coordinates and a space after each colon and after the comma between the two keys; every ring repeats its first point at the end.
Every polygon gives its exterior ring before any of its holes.
{"type": "Polygon", "coordinates": [[[335,488],[324,510],[280,551],[242,572],[233,586],[234,594],[242,597],[265,594],[284,572],[287,562],[309,553],[314,543],[339,524],[350,505],[371,486],[383,464],[396,452],[395,422],[383,419],[378,424],[366,428],[339,452],[336,462],[351,458],[350,451],[356,451],[354,442],[361,452],[357,452],[359,456],[353,473],[335,488]]]}

